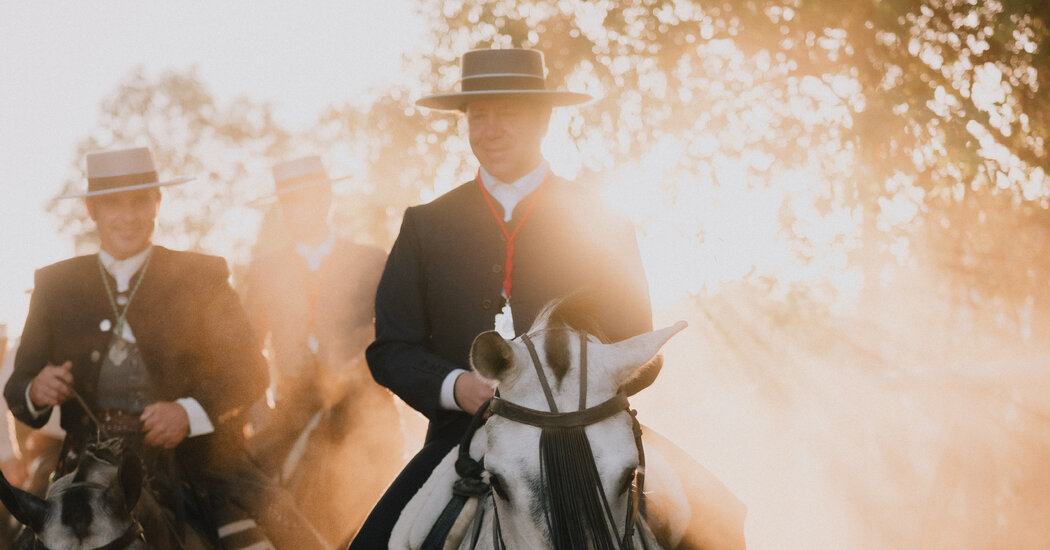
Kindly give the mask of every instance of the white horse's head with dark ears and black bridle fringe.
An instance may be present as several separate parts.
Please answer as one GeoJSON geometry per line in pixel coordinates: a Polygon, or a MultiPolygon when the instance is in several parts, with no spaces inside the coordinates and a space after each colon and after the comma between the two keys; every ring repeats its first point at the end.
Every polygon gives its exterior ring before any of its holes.
{"type": "Polygon", "coordinates": [[[686,324],[604,343],[581,318],[555,302],[525,336],[489,332],[470,350],[499,383],[485,469],[509,548],[618,548],[627,529],[640,457],[625,385],[652,382],[657,352],[686,324]]]}

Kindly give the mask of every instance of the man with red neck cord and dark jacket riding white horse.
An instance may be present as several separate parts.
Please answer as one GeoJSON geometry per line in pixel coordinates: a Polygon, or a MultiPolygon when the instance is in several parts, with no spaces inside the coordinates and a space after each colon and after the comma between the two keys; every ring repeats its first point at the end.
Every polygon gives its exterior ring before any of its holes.
{"type": "Polygon", "coordinates": [[[492,396],[468,363],[478,334],[522,334],[549,300],[581,290],[604,301],[610,338],[652,330],[631,225],[551,173],[541,153],[551,109],[589,99],[551,89],[538,50],[483,49],[463,56],[459,91],[417,102],[465,113],[481,166],[474,179],[405,211],[379,282],[369,366],[429,426],[352,548],[385,548],[405,503],[492,396]]]}

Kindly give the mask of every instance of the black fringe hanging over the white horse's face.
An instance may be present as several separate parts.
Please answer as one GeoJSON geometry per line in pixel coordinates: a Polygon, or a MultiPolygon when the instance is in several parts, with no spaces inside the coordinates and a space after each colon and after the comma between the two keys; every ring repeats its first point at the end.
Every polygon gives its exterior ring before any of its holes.
{"type": "Polygon", "coordinates": [[[554,550],[616,550],[618,535],[583,426],[540,432],[540,473],[554,550]]]}

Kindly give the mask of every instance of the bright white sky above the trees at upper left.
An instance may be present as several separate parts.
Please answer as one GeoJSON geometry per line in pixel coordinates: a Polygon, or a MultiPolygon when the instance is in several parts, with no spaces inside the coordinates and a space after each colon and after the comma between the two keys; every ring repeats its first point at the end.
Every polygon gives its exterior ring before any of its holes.
{"type": "Polygon", "coordinates": [[[195,65],[216,101],[269,101],[298,128],[397,79],[422,29],[406,0],[0,4],[0,323],[19,334],[34,270],[72,255],[44,206],[132,68],[195,65]]]}

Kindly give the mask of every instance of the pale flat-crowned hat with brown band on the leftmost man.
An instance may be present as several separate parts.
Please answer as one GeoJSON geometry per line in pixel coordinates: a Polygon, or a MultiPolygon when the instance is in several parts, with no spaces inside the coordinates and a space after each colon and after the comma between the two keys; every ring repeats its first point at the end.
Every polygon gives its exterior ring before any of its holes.
{"type": "Polygon", "coordinates": [[[87,153],[87,191],[69,193],[58,198],[107,195],[184,184],[190,179],[193,177],[181,176],[162,182],[153,166],[153,153],[148,147],[97,151],[87,153]]]}

